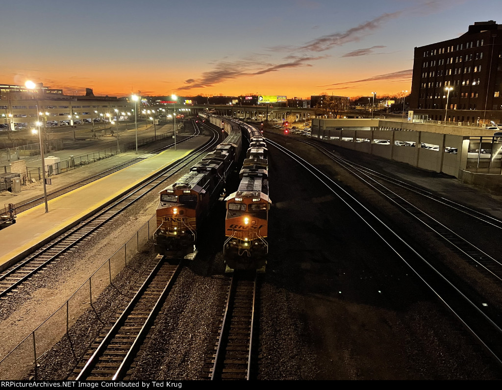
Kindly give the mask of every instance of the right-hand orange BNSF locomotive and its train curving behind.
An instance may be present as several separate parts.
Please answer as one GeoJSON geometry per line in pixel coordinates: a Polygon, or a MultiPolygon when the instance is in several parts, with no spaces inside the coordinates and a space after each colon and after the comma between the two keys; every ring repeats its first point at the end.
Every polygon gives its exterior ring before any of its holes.
{"type": "Polygon", "coordinates": [[[261,133],[240,123],[249,137],[249,149],[240,170],[237,191],[226,199],[223,255],[227,271],[265,270],[269,250],[268,150],[261,133]]]}

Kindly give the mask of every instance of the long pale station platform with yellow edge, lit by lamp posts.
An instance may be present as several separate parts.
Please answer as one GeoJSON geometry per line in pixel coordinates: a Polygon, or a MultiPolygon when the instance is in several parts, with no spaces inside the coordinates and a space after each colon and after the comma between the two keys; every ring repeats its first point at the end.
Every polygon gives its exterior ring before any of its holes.
{"type": "MultiPolygon", "coordinates": [[[[0,271],[88,218],[94,210],[118,199],[169,164],[185,157],[206,141],[207,137],[195,137],[179,144],[176,151],[169,149],[155,155],[144,155],[143,161],[49,200],[47,213],[45,204],[42,203],[19,214],[16,223],[0,230],[0,271]]],[[[10,202],[7,198],[3,200],[10,202]]]]}

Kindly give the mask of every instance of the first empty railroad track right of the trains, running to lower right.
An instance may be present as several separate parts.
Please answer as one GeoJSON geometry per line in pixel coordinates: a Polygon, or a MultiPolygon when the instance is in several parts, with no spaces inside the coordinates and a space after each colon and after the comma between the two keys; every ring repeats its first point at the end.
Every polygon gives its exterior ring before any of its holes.
{"type": "Polygon", "coordinates": [[[385,224],[371,210],[361,204],[354,196],[344,190],[322,171],[287,150],[278,143],[267,140],[267,145],[277,148],[295,162],[303,166],[323,183],[336,197],[349,207],[355,215],[370,227],[382,241],[410,268],[434,296],[468,329],[474,338],[483,345],[502,365],[502,315],[495,305],[486,304],[490,297],[483,297],[479,292],[454,277],[441,264],[434,264],[434,259],[426,259],[414,248],[414,242],[408,242],[401,232],[385,224]]]}

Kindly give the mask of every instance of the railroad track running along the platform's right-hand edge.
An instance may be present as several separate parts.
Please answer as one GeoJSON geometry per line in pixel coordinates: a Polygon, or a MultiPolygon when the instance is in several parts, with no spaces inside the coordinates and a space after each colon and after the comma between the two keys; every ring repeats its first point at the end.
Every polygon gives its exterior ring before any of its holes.
{"type": "Polygon", "coordinates": [[[17,292],[17,288],[21,284],[27,282],[34,275],[46,269],[49,264],[52,264],[68,250],[74,248],[84,239],[96,233],[99,229],[104,227],[106,223],[116,218],[123,210],[127,209],[154,188],[161,185],[178,171],[191,164],[200,155],[206,153],[208,149],[217,145],[218,136],[219,134],[215,133],[214,138],[211,139],[208,144],[199,148],[193,154],[171,164],[163,172],[150,178],[147,182],[132,190],[127,195],[122,196],[119,200],[106,206],[79,225],[71,228],[61,236],[44,245],[22,262],[0,273],[0,299],[6,299],[8,296],[13,295],[17,292]]]}

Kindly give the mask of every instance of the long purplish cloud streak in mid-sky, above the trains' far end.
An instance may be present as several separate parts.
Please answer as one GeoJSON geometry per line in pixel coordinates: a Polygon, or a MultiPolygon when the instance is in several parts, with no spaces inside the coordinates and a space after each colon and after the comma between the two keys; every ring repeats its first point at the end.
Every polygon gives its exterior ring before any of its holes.
{"type": "Polygon", "coordinates": [[[216,69],[202,73],[200,78],[190,78],[185,80],[184,86],[177,88],[177,90],[188,90],[192,88],[206,88],[215,84],[222,83],[226,80],[235,79],[243,76],[257,76],[261,74],[277,72],[281,69],[298,68],[304,66],[312,66],[309,61],[316,61],[322,57],[294,57],[290,56],[290,61],[281,64],[267,64],[265,68],[256,68],[257,62],[255,61],[234,61],[234,62],[219,62],[216,64],[216,69]]]}

